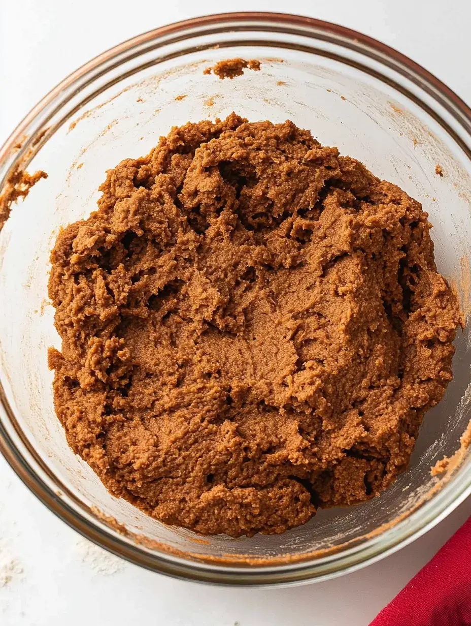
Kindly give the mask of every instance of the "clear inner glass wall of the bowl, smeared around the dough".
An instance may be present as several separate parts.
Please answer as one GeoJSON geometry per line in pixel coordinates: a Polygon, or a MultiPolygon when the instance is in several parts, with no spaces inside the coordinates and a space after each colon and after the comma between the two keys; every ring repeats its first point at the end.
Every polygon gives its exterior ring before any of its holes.
{"type": "MultiPolygon", "coordinates": [[[[446,111],[392,70],[387,70],[388,78],[410,89],[413,99],[362,68],[330,58],[339,51],[324,41],[315,42],[317,52],[288,49],[286,45],[313,42],[301,35],[274,36],[255,29],[205,35],[196,43],[202,49],[195,50],[191,41],[193,51],[184,56],[190,44],[180,41],[127,61],[122,68],[110,70],[99,84],[116,78],[123,68],[132,72],[129,76],[91,96],[98,87],[94,83],[74,100],[90,98],[81,110],[64,123],[60,115],[67,116],[72,105],[53,118],[51,123],[61,125],[28,167],[29,171],[41,168],[49,177],[14,207],[0,235],[1,381],[19,426],[64,491],[69,490],[85,509],[95,506],[138,535],[183,552],[241,553],[265,559],[342,545],[410,508],[433,484],[430,466],[457,448],[470,418],[465,394],[471,361],[468,328],[458,332],[455,378],[443,402],[426,415],[408,471],[380,498],[355,508],[322,511],[306,525],[280,536],[236,540],[218,536],[195,542],[192,533],[151,520],[106,491],[69,449],[54,414],[47,351],[49,346],[60,348],[60,343],[47,284],[49,254],[59,229],[94,210],[108,168],[123,158],[144,155],[171,126],[188,120],[223,118],[231,111],[250,121],[290,119],[309,128],[323,144],[358,158],[378,177],[397,183],[429,213],[438,267],[468,304],[471,164],[457,140],[434,119],[435,113],[448,119],[446,111]],[[211,48],[215,43],[223,46],[211,48]],[[234,80],[203,74],[206,66],[234,56],[260,59],[261,71],[246,70],[234,80]],[[134,71],[144,63],[146,67],[134,71]],[[177,96],[185,97],[176,100],[177,96]],[[433,110],[427,113],[416,98],[433,110]],[[437,163],[443,177],[435,173],[437,163]]],[[[360,53],[347,55],[355,63],[365,61],[360,53]]],[[[375,65],[371,60],[365,64],[375,65]]],[[[453,125],[453,120],[448,122],[453,125]]]]}

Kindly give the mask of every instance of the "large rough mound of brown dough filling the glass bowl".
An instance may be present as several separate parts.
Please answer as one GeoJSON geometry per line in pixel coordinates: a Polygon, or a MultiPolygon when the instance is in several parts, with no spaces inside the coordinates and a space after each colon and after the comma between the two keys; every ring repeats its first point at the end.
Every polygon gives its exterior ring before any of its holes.
{"type": "Polygon", "coordinates": [[[418,202],[290,122],[173,128],[52,253],[56,412],[108,489],[281,533],[403,471],[457,300],[418,202]]]}

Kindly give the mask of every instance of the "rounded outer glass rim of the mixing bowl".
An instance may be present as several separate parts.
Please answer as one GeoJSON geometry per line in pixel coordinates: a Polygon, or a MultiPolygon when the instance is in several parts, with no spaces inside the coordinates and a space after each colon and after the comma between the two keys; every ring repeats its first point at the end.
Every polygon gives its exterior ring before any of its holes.
{"type": "MultiPolygon", "coordinates": [[[[471,108],[427,69],[377,39],[358,33],[345,26],[288,13],[254,11],[211,14],[175,22],[139,34],[99,54],[64,78],[61,83],[49,91],[29,111],[28,115],[11,133],[4,145],[1,146],[0,191],[7,182],[9,173],[19,166],[22,169],[26,168],[41,148],[41,145],[43,145],[45,135],[44,112],[50,111],[54,105],[57,106],[56,110],[59,110],[63,106],[61,105],[61,96],[64,93],[78,93],[85,81],[88,81],[87,84],[93,83],[94,80],[99,78],[101,73],[107,71],[106,68],[109,68],[109,64],[114,59],[119,58],[119,56],[123,56],[133,50],[136,50],[136,56],[139,56],[143,52],[139,52],[138,48],[141,48],[146,43],[161,41],[160,45],[162,46],[166,43],[165,38],[167,36],[191,31],[189,35],[191,38],[196,34],[205,33],[204,30],[198,33],[195,29],[204,29],[208,26],[226,26],[230,29],[230,25],[235,22],[253,23],[261,29],[271,24],[283,32],[290,31],[290,29],[298,29],[296,33],[303,34],[308,38],[326,39],[327,41],[340,44],[343,48],[359,51],[363,55],[379,61],[382,65],[395,69],[404,78],[408,78],[418,84],[434,100],[437,100],[444,106],[448,113],[471,135],[471,108]],[[36,126],[39,124],[39,128],[43,128],[43,130],[38,131],[38,128],[35,129],[35,124],[36,126]],[[24,136],[27,136],[26,140],[24,140],[24,136]],[[19,144],[22,144],[21,149],[15,150],[19,144]]],[[[119,61],[119,63],[121,62],[119,61]]],[[[471,151],[469,149],[466,151],[471,158],[471,151]]],[[[430,530],[471,493],[471,468],[468,468],[465,476],[462,476],[463,480],[460,481],[460,485],[457,486],[453,493],[444,489],[437,494],[437,497],[433,498],[434,501],[437,501],[435,510],[428,510],[428,515],[422,515],[420,520],[417,515],[419,511],[415,510],[405,520],[395,525],[394,528],[369,538],[360,548],[349,548],[348,550],[338,552],[337,555],[326,557],[323,562],[329,565],[327,569],[320,569],[318,566],[322,560],[317,559],[301,561],[296,563],[296,566],[279,565],[264,568],[251,565],[248,565],[248,567],[208,566],[206,563],[195,560],[172,557],[165,552],[146,552],[140,546],[131,545],[124,541],[119,532],[113,531],[109,525],[97,523],[92,516],[87,518],[86,515],[83,515],[74,506],[71,506],[62,497],[63,494],[57,493],[48,485],[47,468],[39,466],[38,458],[33,458],[33,461],[25,458],[27,454],[24,452],[24,441],[16,441],[15,439],[17,438],[11,436],[11,433],[5,426],[7,422],[4,422],[4,418],[11,424],[16,423],[16,418],[9,407],[6,394],[0,382],[0,452],[3,453],[6,461],[8,461],[23,483],[49,510],[65,521],[71,528],[74,528],[74,530],[89,540],[94,541],[102,548],[109,550],[109,552],[113,552],[119,557],[149,570],[185,580],[258,587],[285,586],[301,582],[313,582],[314,580],[327,580],[328,578],[355,571],[360,567],[365,567],[399,550],[430,530]],[[400,532],[401,529],[402,532],[400,532]]],[[[16,432],[18,433],[18,429],[16,429],[16,432]]],[[[453,483],[457,483],[457,481],[454,480],[453,483]]],[[[430,502],[427,504],[430,504],[430,502]]]]}

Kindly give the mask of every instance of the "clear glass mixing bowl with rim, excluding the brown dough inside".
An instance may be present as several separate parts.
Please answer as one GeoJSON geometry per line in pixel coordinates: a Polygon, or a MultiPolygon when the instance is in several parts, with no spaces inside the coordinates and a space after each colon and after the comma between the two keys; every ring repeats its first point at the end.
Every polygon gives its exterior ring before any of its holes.
{"type": "Polygon", "coordinates": [[[453,471],[430,475],[470,419],[469,325],[458,332],[455,377],[425,416],[408,470],[375,500],[320,511],[283,535],[201,538],[149,518],[106,491],[54,414],[47,350],[60,346],[47,283],[59,229],[94,210],[105,171],[122,158],[146,154],[173,125],[231,111],[251,121],[289,118],[422,202],[438,268],[463,314],[471,310],[471,111],[452,91],[378,41],[315,19],[232,13],[171,24],[71,74],[0,151],[0,188],[18,168],[49,175],[0,235],[0,449],[56,515],[133,563],[221,584],[323,580],[412,541],[470,493],[465,448],[453,471]],[[234,57],[259,59],[261,70],[234,80],[203,74],[234,57]]]}

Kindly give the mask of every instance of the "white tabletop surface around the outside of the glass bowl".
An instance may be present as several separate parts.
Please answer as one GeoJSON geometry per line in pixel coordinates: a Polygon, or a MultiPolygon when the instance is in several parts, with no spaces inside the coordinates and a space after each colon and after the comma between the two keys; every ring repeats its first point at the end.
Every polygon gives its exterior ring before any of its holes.
{"type": "MultiPolygon", "coordinates": [[[[0,0],[0,141],[46,91],[95,54],[149,28],[233,6],[227,0],[172,6],[158,0],[0,0]]],[[[471,103],[468,67],[457,60],[468,58],[471,4],[449,7],[437,0],[238,5],[362,30],[422,63],[471,103]]],[[[140,570],[95,548],[46,510],[0,458],[0,624],[367,626],[470,514],[467,501],[413,545],[331,582],[266,591],[210,588],[140,570]]]]}

